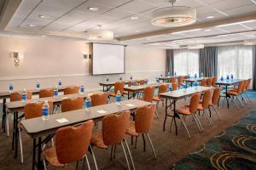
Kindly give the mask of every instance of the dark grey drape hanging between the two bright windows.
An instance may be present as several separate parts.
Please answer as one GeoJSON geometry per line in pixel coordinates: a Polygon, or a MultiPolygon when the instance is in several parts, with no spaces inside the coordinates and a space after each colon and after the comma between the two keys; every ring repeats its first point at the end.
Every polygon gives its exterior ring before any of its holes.
{"type": "Polygon", "coordinates": [[[200,49],[199,52],[199,72],[204,77],[217,76],[218,70],[218,48],[206,47],[200,49]]]}

